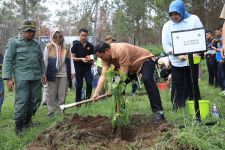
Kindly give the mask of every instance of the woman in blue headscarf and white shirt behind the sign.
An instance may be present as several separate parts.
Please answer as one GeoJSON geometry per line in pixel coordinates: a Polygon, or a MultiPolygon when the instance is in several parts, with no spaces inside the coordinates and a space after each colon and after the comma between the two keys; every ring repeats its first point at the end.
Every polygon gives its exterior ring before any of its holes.
{"type": "MultiPolygon", "coordinates": [[[[162,45],[172,64],[171,100],[173,109],[176,110],[185,106],[185,101],[187,98],[193,99],[194,96],[191,90],[190,68],[188,65],[187,56],[173,55],[171,32],[202,28],[203,26],[198,16],[191,15],[186,11],[185,5],[181,0],[175,0],[170,4],[169,17],[170,20],[163,26],[162,45]]],[[[201,99],[198,87],[198,65],[194,65],[193,68],[193,80],[194,84],[197,85],[194,91],[197,94],[197,98],[201,99]]]]}

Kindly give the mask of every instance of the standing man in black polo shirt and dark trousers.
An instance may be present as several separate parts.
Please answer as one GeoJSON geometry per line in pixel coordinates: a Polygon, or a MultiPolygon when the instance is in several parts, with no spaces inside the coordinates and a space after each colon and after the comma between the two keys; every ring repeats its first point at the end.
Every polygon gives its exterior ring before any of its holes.
{"type": "Polygon", "coordinates": [[[86,99],[91,97],[92,92],[92,74],[91,65],[94,46],[87,41],[88,30],[83,28],[79,30],[80,41],[74,41],[71,48],[75,71],[76,71],[76,102],[81,101],[81,91],[83,87],[83,78],[86,81],[86,99]]]}

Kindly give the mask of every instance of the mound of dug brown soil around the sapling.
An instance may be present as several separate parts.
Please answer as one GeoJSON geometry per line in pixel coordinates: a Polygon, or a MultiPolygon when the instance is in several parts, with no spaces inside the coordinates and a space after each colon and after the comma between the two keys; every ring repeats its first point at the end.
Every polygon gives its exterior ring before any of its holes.
{"type": "Polygon", "coordinates": [[[44,131],[28,149],[140,149],[150,147],[158,136],[171,128],[167,123],[156,126],[148,117],[134,115],[130,125],[122,128],[122,138],[117,139],[110,118],[75,114],[44,131]]]}

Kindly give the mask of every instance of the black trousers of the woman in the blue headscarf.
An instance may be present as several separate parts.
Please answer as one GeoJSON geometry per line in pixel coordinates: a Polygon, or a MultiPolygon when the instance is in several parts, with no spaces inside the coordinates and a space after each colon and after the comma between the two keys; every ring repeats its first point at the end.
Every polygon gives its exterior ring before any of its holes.
{"type": "MultiPolygon", "coordinates": [[[[171,90],[171,101],[173,104],[173,109],[179,109],[185,106],[186,99],[193,100],[194,94],[192,91],[192,80],[190,67],[174,67],[171,68],[172,71],[172,90],[171,90]]],[[[195,85],[194,93],[197,99],[201,99],[199,86],[198,86],[198,74],[199,66],[193,66],[193,84],[195,85]]]]}

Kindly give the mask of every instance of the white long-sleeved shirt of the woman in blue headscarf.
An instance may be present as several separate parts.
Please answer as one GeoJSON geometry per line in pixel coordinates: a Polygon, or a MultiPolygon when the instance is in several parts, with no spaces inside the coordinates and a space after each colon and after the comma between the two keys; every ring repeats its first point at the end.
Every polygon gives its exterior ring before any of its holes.
{"type": "Polygon", "coordinates": [[[171,52],[173,51],[171,32],[202,27],[203,25],[198,16],[196,15],[191,15],[190,17],[185,18],[178,23],[175,23],[172,20],[170,20],[164,24],[162,30],[162,45],[165,53],[169,55],[169,59],[173,66],[175,67],[188,66],[188,62],[180,61],[177,56],[171,55],[171,52]]]}

